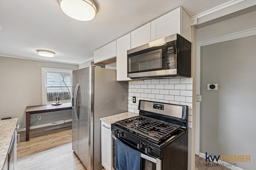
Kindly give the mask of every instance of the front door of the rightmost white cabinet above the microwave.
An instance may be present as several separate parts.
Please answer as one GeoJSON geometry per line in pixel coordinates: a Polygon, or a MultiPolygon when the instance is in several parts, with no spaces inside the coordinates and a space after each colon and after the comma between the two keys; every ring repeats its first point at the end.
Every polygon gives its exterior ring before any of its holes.
{"type": "Polygon", "coordinates": [[[177,8],[154,21],[151,21],[151,41],[155,41],[175,33],[180,34],[180,10],[177,8]]]}

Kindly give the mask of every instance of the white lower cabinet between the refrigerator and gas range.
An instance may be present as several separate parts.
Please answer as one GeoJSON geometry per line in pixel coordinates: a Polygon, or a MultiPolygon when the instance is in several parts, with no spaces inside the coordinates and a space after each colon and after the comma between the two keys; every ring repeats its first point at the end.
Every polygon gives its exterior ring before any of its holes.
{"type": "Polygon", "coordinates": [[[111,125],[101,121],[101,164],[111,170],[111,125]]]}

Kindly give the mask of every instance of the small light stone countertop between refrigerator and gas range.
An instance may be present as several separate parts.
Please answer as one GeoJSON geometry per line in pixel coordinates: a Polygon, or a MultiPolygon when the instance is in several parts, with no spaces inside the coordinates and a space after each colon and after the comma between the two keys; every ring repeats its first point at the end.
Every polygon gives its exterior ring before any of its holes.
{"type": "Polygon", "coordinates": [[[108,117],[102,117],[100,118],[100,121],[104,121],[105,123],[108,123],[109,125],[115,123],[116,121],[120,121],[123,119],[127,119],[130,117],[135,117],[138,116],[139,114],[137,113],[132,113],[132,112],[124,112],[124,113],[120,113],[120,114],[116,114],[116,115],[112,115],[112,116],[108,116],[108,117]]]}

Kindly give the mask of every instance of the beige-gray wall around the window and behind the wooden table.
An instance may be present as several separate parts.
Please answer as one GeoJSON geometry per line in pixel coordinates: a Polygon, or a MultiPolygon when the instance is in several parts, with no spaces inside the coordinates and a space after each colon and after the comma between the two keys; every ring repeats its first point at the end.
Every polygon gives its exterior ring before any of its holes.
{"type": "MultiPolygon", "coordinates": [[[[42,67],[74,70],[78,65],[28,59],[0,57],[0,119],[18,118],[20,128],[26,127],[26,106],[42,105],[42,67]]],[[[72,119],[72,111],[58,111],[30,115],[32,126],[56,120],[72,119]]]]}

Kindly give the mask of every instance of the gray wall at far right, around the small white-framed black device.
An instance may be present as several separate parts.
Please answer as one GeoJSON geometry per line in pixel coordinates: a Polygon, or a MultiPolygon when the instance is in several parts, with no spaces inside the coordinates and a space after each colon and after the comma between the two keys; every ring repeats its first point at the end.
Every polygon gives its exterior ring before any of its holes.
{"type": "Polygon", "coordinates": [[[253,35],[201,47],[200,152],[250,155],[251,162],[230,162],[248,170],[256,157],[255,40],[253,35]],[[218,83],[218,90],[207,90],[209,83],[218,83]]]}

